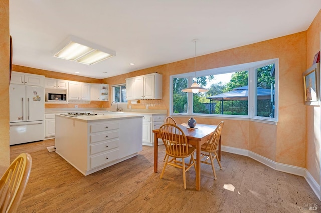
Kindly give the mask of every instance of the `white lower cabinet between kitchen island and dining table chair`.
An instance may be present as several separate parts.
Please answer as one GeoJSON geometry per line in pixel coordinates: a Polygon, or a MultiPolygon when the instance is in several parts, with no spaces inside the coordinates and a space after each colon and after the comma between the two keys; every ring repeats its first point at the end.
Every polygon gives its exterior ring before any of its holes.
{"type": "MultiPolygon", "coordinates": [[[[142,115],[144,115],[142,122],[142,144],[153,146],[154,134],[152,130],[159,129],[164,124],[166,114],[142,115]]],[[[158,144],[162,144],[161,140],[158,140],[158,144]]]]}

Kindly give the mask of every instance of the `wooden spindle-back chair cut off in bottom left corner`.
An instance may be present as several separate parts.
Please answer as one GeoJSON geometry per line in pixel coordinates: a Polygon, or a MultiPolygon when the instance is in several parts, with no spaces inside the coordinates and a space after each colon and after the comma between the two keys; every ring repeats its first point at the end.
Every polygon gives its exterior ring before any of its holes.
{"type": "Polygon", "coordinates": [[[31,171],[30,154],[20,154],[0,179],[0,212],[16,212],[31,171]]]}

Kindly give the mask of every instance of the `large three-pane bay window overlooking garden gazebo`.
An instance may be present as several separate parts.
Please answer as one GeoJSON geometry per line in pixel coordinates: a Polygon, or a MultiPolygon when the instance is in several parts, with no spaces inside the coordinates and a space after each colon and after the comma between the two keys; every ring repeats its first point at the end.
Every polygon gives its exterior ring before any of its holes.
{"type": "Polygon", "coordinates": [[[171,76],[170,114],[277,121],[278,59],[171,76]],[[186,93],[193,82],[209,91],[186,93]]]}

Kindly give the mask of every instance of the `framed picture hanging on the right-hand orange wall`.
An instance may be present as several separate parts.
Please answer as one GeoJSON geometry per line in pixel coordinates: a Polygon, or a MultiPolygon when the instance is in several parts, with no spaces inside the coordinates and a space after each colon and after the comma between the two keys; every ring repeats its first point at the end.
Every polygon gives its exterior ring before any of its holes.
{"type": "Polygon", "coordinates": [[[320,63],[315,63],[303,73],[305,105],[319,105],[320,63]]]}

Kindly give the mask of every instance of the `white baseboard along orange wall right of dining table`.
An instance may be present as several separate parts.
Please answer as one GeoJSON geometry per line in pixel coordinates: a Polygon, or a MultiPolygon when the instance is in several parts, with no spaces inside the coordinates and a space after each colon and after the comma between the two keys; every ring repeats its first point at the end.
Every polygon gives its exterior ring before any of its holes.
{"type": "Polygon", "coordinates": [[[298,176],[302,176],[306,179],[307,183],[310,185],[316,196],[321,200],[321,187],[320,185],[315,181],[315,179],[312,177],[312,175],[308,172],[306,168],[293,166],[293,165],[287,165],[283,163],[274,162],[273,160],[270,160],[266,157],[263,157],[257,153],[254,153],[252,151],[246,150],[246,149],[240,149],[240,148],[233,148],[229,146],[221,146],[221,150],[224,152],[232,153],[232,154],[238,154],[243,156],[248,156],[270,168],[273,168],[277,171],[282,171],[285,173],[290,173],[298,176]]]}

